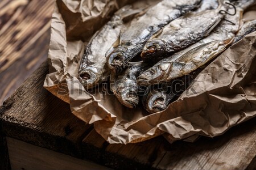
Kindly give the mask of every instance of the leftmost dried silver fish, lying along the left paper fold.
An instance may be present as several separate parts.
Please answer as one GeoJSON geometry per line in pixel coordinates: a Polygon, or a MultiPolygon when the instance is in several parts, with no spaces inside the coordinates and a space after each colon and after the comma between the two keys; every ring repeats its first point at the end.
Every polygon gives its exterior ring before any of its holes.
{"type": "Polygon", "coordinates": [[[79,67],[79,80],[86,88],[93,88],[110,74],[106,66],[105,53],[125,28],[123,19],[137,14],[141,10],[132,10],[131,6],[122,7],[112,19],[97,31],[85,48],[79,67]]]}

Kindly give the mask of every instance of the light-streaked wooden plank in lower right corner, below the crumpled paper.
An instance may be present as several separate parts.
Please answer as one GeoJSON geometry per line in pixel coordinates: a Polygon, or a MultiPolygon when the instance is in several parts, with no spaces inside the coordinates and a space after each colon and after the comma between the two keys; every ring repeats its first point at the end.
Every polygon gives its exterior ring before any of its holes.
{"type": "MultiPolygon", "coordinates": [[[[215,138],[176,142],[166,148],[160,169],[245,169],[256,155],[256,118],[215,138]]],[[[254,167],[256,168],[256,167],[254,167]]]]}

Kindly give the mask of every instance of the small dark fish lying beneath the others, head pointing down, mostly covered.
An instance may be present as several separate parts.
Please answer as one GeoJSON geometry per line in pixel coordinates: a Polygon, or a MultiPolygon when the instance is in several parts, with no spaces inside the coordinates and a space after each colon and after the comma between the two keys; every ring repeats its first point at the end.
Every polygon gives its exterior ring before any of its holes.
{"type": "Polygon", "coordinates": [[[128,108],[135,108],[139,103],[139,86],[136,78],[150,67],[147,63],[135,63],[114,80],[110,80],[110,87],[121,104],[128,108]]]}

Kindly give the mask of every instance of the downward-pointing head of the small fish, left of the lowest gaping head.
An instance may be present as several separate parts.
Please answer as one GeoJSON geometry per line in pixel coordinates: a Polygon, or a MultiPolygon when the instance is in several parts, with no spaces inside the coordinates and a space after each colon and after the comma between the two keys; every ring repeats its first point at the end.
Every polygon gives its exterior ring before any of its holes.
{"type": "Polygon", "coordinates": [[[115,82],[115,96],[128,108],[135,108],[139,104],[139,96],[137,94],[138,85],[130,80],[115,82]]]}

